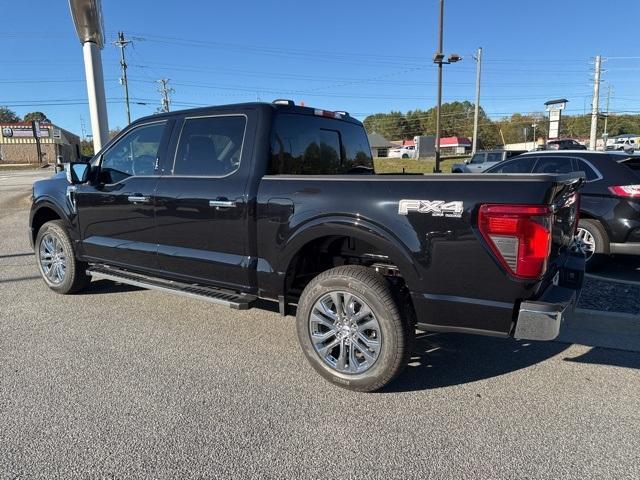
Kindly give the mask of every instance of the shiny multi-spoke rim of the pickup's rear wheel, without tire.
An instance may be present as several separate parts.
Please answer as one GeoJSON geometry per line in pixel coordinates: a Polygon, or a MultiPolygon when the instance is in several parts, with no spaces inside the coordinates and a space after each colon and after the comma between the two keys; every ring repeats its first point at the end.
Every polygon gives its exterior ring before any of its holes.
{"type": "Polygon", "coordinates": [[[329,292],[316,301],[309,316],[309,333],[316,353],[341,373],[367,371],[382,346],[380,325],[371,308],[343,291],[329,292]]]}

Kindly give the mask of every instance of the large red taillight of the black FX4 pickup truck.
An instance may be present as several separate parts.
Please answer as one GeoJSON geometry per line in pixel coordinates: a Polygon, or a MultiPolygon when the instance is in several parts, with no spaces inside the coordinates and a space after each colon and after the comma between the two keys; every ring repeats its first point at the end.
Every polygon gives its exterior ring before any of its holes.
{"type": "Polygon", "coordinates": [[[482,205],[478,228],[500,263],[518,278],[540,278],[551,251],[553,213],[537,205],[482,205]]]}

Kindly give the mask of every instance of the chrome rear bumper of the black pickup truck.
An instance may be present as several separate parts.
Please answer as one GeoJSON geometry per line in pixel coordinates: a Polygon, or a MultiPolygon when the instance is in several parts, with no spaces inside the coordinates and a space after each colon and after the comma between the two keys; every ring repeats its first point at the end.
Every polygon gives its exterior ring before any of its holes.
{"type": "Polygon", "coordinates": [[[555,339],[562,322],[573,314],[583,278],[583,255],[571,255],[558,272],[557,281],[538,300],[520,304],[513,336],[523,340],[555,339]]]}

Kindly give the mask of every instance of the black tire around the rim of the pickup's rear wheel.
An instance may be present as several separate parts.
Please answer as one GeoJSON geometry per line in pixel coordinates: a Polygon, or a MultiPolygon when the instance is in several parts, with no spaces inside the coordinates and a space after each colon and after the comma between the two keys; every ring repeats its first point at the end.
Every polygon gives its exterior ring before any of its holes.
{"type": "Polygon", "coordinates": [[[359,392],[379,390],[402,372],[415,335],[384,277],[370,268],[354,265],[327,270],[307,285],[298,304],[296,324],[302,351],[313,368],[330,382],[359,392]],[[309,319],[314,305],[327,293],[336,291],[356,295],[366,302],[380,326],[378,357],[361,373],[342,373],[332,368],[316,352],[311,340],[309,319]]]}

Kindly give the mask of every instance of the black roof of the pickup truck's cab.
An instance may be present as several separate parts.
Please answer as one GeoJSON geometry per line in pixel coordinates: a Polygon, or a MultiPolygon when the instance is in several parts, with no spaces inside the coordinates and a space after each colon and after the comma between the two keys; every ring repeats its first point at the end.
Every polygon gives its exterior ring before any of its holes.
{"type": "Polygon", "coordinates": [[[330,110],[323,110],[323,109],[314,108],[314,107],[307,107],[307,106],[303,107],[301,105],[295,105],[293,104],[293,102],[290,102],[289,104],[267,103],[267,102],[247,102],[247,103],[232,103],[227,105],[211,105],[208,107],[188,108],[183,110],[174,110],[172,112],[167,112],[167,113],[157,113],[154,115],[147,115],[146,117],[141,117],[132,123],[138,123],[138,122],[149,120],[152,118],[158,119],[158,118],[172,117],[174,115],[184,115],[184,114],[210,115],[210,114],[215,114],[217,112],[229,113],[234,110],[237,110],[237,111],[262,110],[262,111],[276,111],[279,113],[317,115],[317,116],[334,118],[334,119],[342,120],[349,123],[355,123],[358,125],[362,124],[362,122],[360,122],[356,118],[351,117],[349,113],[345,111],[330,111],[330,110]]]}

